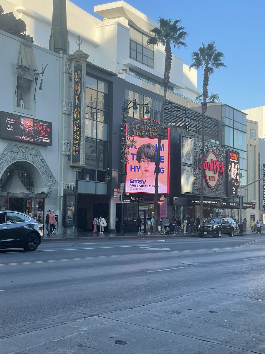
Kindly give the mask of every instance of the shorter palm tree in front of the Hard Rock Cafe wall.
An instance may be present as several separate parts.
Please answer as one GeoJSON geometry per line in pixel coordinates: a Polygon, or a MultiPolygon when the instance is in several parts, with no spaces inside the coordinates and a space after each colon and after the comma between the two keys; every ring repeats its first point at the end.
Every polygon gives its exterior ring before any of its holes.
{"type": "Polygon", "coordinates": [[[189,68],[203,69],[204,76],[202,81],[202,129],[201,129],[201,204],[200,204],[200,218],[203,220],[204,207],[203,207],[203,195],[204,195],[204,116],[207,111],[207,97],[208,97],[208,85],[209,76],[213,74],[214,69],[226,68],[222,59],[224,53],[219,52],[215,47],[215,41],[208,43],[206,46],[202,43],[202,47],[197,52],[192,52],[193,63],[189,68]]]}

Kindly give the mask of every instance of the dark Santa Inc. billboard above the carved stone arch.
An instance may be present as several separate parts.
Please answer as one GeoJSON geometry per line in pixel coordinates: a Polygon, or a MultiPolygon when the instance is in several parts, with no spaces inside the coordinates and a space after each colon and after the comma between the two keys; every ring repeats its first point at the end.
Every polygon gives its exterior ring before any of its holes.
{"type": "Polygon", "coordinates": [[[51,146],[52,123],[0,112],[0,138],[51,146]]]}

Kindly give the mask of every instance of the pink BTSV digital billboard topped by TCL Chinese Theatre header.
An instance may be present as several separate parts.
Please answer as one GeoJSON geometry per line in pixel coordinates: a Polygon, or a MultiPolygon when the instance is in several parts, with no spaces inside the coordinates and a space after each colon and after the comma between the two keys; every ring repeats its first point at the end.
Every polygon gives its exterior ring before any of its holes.
{"type": "MultiPolygon", "coordinates": [[[[126,193],[154,193],[159,122],[139,119],[127,123],[128,162],[125,169],[126,193]],[[130,144],[132,138],[136,143],[130,144]]],[[[158,193],[169,194],[170,129],[162,129],[158,193]]]]}

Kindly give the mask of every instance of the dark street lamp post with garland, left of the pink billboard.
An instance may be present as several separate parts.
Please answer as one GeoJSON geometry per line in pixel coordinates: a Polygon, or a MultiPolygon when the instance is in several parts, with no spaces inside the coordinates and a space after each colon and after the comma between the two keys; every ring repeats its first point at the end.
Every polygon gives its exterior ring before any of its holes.
{"type": "Polygon", "coordinates": [[[146,107],[145,116],[146,118],[150,118],[148,103],[137,103],[135,98],[133,101],[129,101],[129,102],[124,101],[122,106],[122,126],[121,126],[122,133],[121,133],[121,150],[120,150],[120,155],[121,155],[120,162],[122,164],[122,172],[119,172],[119,174],[122,176],[122,183],[120,184],[120,187],[123,186],[123,188],[121,188],[122,217],[120,223],[120,236],[126,236],[125,223],[124,223],[124,195],[125,195],[125,176],[127,173],[125,172],[125,164],[128,162],[128,156],[129,156],[129,144],[127,141],[127,133],[126,133],[126,115],[128,110],[131,108],[133,108],[134,114],[137,114],[138,113],[137,105],[146,107]]]}

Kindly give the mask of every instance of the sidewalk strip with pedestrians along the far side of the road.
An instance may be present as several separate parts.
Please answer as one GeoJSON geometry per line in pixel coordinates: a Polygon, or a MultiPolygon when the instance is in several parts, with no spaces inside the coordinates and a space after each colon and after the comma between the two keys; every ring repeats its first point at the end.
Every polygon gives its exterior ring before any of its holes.
{"type": "MultiPolygon", "coordinates": [[[[254,236],[254,235],[264,235],[265,231],[261,233],[251,233],[251,231],[247,231],[244,234],[235,234],[235,236],[254,236]]],[[[42,242],[45,241],[103,241],[103,240],[128,240],[128,239],[173,239],[173,238],[187,238],[194,237],[199,238],[197,233],[194,234],[178,234],[178,235],[147,235],[142,233],[141,235],[137,235],[136,233],[127,233],[126,236],[120,236],[119,233],[108,233],[105,232],[103,235],[92,232],[78,232],[77,234],[53,234],[53,237],[47,236],[45,234],[43,236],[42,242]]]]}

